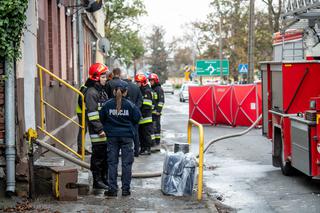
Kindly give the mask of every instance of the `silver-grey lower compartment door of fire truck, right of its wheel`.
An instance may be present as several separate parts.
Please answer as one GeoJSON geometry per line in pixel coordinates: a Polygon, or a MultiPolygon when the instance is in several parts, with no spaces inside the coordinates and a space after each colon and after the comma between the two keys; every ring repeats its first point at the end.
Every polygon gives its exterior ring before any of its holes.
{"type": "Polygon", "coordinates": [[[310,128],[302,118],[291,119],[292,166],[306,175],[311,175],[310,128]]]}

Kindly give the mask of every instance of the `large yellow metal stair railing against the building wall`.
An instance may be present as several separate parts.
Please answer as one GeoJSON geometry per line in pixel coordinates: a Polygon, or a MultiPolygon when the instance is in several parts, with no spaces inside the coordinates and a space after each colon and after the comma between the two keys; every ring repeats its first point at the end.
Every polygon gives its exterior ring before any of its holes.
{"type": "Polygon", "coordinates": [[[40,84],[40,119],[41,119],[41,126],[38,128],[47,136],[49,136],[50,138],[52,138],[54,141],[56,141],[57,143],[59,143],[60,145],[62,145],[64,148],[66,148],[67,150],[69,150],[70,152],[72,152],[73,154],[75,154],[77,157],[79,157],[80,159],[84,160],[84,148],[85,148],[85,104],[84,104],[84,96],[82,94],[82,92],[80,92],[77,88],[73,87],[72,85],[68,84],[67,82],[65,82],[64,80],[62,80],[61,78],[59,78],[58,76],[56,76],[55,74],[53,74],[52,72],[50,72],[49,70],[47,70],[46,68],[40,66],[39,64],[37,64],[37,68],[38,68],[38,72],[39,72],[39,84],[40,84]],[[63,112],[61,112],[58,108],[52,106],[51,104],[49,104],[46,100],[44,100],[43,97],[43,73],[49,75],[50,77],[52,77],[54,80],[58,81],[59,83],[65,85],[67,88],[71,89],[72,91],[74,91],[75,93],[77,93],[78,95],[80,95],[82,97],[82,120],[81,120],[81,124],[74,121],[71,117],[67,116],[66,114],[64,114],[63,112]],[[44,110],[45,110],[45,106],[50,107],[51,109],[53,109],[55,112],[57,112],[58,114],[60,114],[61,116],[63,116],[64,118],[66,118],[67,120],[71,121],[72,123],[74,123],[75,125],[79,126],[82,130],[81,130],[81,155],[78,154],[76,151],[74,151],[72,148],[70,148],[68,145],[66,145],[65,143],[63,143],[61,140],[59,140],[58,138],[56,138],[55,136],[53,136],[51,133],[49,133],[46,130],[46,127],[44,125],[45,123],[45,118],[44,118],[44,110]]]}

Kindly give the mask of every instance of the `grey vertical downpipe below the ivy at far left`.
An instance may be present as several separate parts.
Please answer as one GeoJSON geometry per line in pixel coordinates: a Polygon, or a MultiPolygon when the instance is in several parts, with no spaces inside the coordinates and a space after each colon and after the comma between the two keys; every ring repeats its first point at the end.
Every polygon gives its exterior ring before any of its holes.
{"type": "Polygon", "coordinates": [[[14,63],[5,61],[5,144],[6,144],[6,172],[7,188],[6,194],[11,196],[15,193],[15,160],[16,160],[16,143],[15,143],[15,79],[14,63]]]}

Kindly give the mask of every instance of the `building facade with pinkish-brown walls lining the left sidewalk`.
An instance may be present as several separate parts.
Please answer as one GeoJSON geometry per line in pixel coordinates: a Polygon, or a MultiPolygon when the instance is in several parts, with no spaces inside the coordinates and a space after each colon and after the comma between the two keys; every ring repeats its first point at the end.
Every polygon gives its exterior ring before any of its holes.
{"type": "MultiPolygon", "coordinates": [[[[97,48],[99,39],[104,36],[103,9],[89,13],[84,8],[72,7],[80,3],[80,0],[29,0],[27,30],[21,41],[22,58],[15,63],[14,69],[18,194],[27,191],[27,187],[19,187],[19,182],[29,181],[28,147],[23,134],[28,128],[37,129],[40,125],[40,87],[36,64],[79,87],[88,77],[90,65],[105,61],[104,54],[97,48]]],[[[3,61],[0,59],[0,75],[4,74],[3,61]]],[[[76,118],[77,95],[74,92],[47,75],[44,76],[43,89],[48,103],[76,118]]],[[[3,81],[0,81],[0,182],[5,182],[6,178],[4,90],[3,81]]],[[[78,127],[48,107],[45,108],[45,126],[69,146],[76,144],[78,127]]],[[[54,143],[38,129],[37,132],[40,139],[54,143]]],[[[37,150],[36,158],[42,152],[37,150]]],[[[0,183],[0,188],[4,185],[0,183]]]]}

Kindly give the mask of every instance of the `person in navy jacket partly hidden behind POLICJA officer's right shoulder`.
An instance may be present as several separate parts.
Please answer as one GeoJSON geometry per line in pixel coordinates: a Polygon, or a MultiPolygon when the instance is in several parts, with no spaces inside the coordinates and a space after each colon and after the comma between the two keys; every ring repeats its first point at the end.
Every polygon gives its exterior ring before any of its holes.
{"type": "MultiPolygon", "coordinates": [[[[122,73],[121,79],[128,83],[128,95],[127,98],[134,103],[139,109],[142,106],[142,94],[140,88],[131,81],[129,75],[122,73]]],[[[134,138],[134,156],[139,157],[139,124],[136,125],[136,137],[134,138]]]]}

